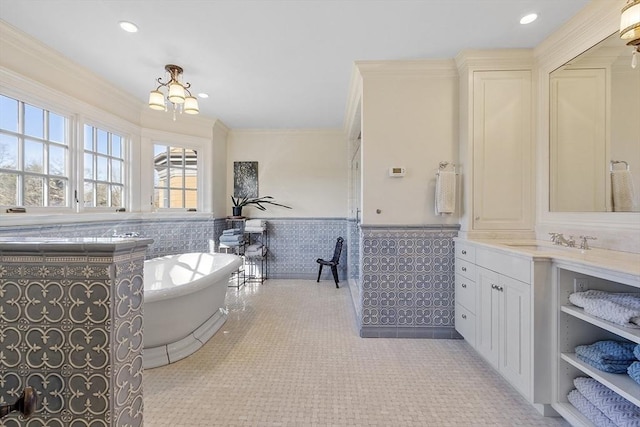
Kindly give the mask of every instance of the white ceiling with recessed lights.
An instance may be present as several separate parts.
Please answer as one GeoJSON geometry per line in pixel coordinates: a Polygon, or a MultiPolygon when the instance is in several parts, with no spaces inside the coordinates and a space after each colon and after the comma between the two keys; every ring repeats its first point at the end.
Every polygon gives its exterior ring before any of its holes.
{"type": "Polygon", "coordinates": [[[354,61],[535,47],[588,2],[0,0],[0,17],[141,102],[177,64],[210,96],[201,114],[231,128],[341,128],[354,61]]]}

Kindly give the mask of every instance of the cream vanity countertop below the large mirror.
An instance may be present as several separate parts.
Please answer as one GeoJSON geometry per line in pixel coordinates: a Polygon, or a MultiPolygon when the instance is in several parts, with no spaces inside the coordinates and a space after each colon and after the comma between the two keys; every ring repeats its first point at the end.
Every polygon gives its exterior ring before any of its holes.
{"type": "Polygon", "coordinates": [[[640,254],[592,248],[583,250],[554,245],[540,240],[454,239],[486,246],[510,254],[531,259],[547,259],[559,264],[571,264],[592,269],[603,269],[613,274],[623,274],[640,287],[640,254]]]}

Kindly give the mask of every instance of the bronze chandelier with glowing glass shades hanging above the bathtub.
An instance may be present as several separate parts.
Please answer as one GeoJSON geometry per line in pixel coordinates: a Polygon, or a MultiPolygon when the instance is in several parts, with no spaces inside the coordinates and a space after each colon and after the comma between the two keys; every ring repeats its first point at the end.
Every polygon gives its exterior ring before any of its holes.
{"type": "Polygon", "coordinates": [[[176,119],[176,112],[182,114],[198,114],[198,100],[191,95],[189,88],[191,84],[182,83],[182,67],[173,64],[167,64],[164,69],[169,73],[167,82],[162,81],[162,77],[158,77],[159,86],[156,90],[152,90],[149,94],[149,108],[153,110],[167,111],[167,101],[173,105],[173,120],[176,119]],[[160,90],[167,89],[166,101],[165,94],[160,90]]]}

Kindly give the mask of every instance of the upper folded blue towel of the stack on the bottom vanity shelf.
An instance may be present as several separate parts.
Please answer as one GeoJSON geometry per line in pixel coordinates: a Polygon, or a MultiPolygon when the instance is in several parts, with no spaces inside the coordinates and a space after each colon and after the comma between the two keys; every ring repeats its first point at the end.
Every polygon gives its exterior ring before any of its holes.
{"type": "Polygon", "coordinates": [[[640,408],[593,378],[573,380],[576,389],[619,427],[640,426],[640,408]]]}

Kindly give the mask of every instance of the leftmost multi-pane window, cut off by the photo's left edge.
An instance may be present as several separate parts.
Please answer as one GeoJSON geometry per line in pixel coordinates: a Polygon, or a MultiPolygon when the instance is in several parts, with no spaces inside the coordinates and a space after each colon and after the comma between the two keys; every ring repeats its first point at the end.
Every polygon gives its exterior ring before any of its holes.
{"type": "Polygon", "coordinates": [[[0,205],[69,207],[68,119],[0,95],[0,205]]]}

